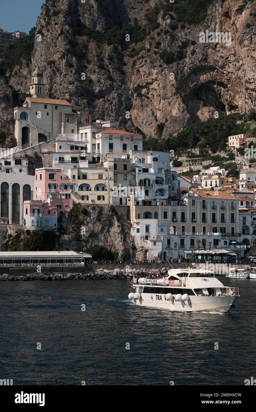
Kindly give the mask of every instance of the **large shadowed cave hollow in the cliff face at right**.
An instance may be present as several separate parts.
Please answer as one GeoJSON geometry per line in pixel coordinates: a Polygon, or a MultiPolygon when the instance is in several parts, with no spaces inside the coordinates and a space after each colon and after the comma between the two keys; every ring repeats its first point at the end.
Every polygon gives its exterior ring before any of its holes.
{"type": "Polygon", "coordinates": [[[191,93],[185,99],[187,100],[187,110],[190,115],[189,124],[197,120],[206,120],[206,117],[210,117],[210,113],[214,110],[226,110],[219,97],[220,92],[217,92],[215,87],[215,83],[207,83],[191,90],[191,93]]]}

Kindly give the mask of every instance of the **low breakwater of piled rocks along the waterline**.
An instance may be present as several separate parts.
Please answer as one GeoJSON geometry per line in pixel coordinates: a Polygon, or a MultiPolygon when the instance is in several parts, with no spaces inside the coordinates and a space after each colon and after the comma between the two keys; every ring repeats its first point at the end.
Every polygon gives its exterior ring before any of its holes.
{"type": "Polygon", "coordinates": [[[0,281],[10,282],[10,281],[61,281],[61,280],[99,280],[99,279],[106,279],[106,280],[117,280],[117,279],[130,279],[130,275],[134,276],[145,276],[145,275],[153,275],[153,276],[162,276],[167,274],[168,269],[163,267],[161,269],[96,269],[95,271],[88,271],[85,270],[84,272],[80,273],[51,273],[51,274],[43,274],[43,273],[29,273],[24,275],[10,275],[4,273],[0,275],[0,281]]]}

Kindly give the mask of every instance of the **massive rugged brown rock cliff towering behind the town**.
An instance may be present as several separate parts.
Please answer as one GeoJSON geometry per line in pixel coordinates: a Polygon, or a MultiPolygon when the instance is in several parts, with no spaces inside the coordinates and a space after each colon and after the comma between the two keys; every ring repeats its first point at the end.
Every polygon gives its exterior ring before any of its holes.
{"type": "Polygon", "coordinates": [[[48,0],[32,62],[20,59],[1,78],[0,126],[12,129],[10,86],[27,89],[36,64],[50,96],[146,137],[166,138],[215,110],[248,112],[255,16],[253,0],[48,0]],[[205,30],[231,33],[232,42],[201,43],[205,30]]]}

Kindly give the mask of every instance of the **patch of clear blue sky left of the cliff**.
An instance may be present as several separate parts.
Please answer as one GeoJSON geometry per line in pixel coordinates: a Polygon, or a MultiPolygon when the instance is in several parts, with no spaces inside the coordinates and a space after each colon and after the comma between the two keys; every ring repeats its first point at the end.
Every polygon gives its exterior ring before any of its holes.
{"type": "Polygon", "coordinates": [[[21,30],[29,33],[36,26],[44,0],[0,0],[0,28],[12,32],[21,30]]]}

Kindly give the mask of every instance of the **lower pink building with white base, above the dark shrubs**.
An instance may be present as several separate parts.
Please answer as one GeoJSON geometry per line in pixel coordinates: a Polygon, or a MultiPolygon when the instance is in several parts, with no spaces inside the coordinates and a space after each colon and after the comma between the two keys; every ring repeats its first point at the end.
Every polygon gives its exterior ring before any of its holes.
{"type": "MultiPolygon", "coordinates": [[[[50,199],[49,199],[50,200],[50,199]]],[[[58,209],[48,200],[23,202],[23,225],[25,229],[58,229],[58,209]]]]}

